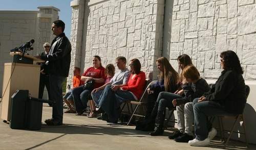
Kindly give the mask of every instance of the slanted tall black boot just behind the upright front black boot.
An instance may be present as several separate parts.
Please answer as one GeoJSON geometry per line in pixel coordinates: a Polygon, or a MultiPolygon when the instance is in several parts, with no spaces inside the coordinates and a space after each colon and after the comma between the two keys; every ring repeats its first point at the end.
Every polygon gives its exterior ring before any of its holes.
{"type": "Polygon", "coordinates": [[[145,120],[145,126],[144,126],[144,128],[141,129],[141,131],[154,131],[157,110],[158,110],[158,103],[155,103],[154,108],[151,113],[151,117],[150,117],[150,119],[145,120]]]}

